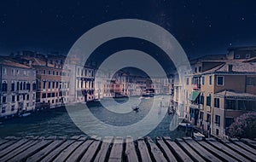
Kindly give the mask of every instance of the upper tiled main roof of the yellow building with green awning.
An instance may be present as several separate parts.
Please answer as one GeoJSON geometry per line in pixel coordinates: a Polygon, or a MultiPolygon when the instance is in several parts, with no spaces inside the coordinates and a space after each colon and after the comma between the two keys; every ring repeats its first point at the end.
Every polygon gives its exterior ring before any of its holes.
{"type": "Polygon", "coordinates": [[[256,62],[243,62],[243,61],[225,61],[223,64],[218,67],[213,67],[210,70],[207,70],[203,73],[215,73],[215,72],[230,72],[230,73],[256,73],[256,62]],[[230,65],[232,69],[230,71],[230,65]]]}

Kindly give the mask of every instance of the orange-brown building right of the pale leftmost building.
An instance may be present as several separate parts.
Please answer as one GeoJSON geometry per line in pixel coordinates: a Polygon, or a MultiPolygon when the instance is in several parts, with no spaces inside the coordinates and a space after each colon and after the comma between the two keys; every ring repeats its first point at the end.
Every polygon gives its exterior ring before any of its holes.
{"type": "Polygon", "coordinates": [[[63,101],[69,100],[69,83],[61,78],[68,78],[69,72],[62,70],[59,62],[49,61],[47,57],[16,57],[22,64],[36,70],[37,75],[37,108],[61,107],[63,101]]]}

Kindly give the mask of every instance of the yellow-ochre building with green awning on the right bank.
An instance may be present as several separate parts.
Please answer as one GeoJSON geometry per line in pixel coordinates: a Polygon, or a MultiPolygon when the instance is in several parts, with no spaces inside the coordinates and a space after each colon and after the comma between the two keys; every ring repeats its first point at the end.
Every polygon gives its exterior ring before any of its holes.
{"type": "Polygon", "coordinates": [[[256,64],[248,53],[247,48],[230,49],[221,58],[192,64],[194,72],[186,76],[183,93],[186,117],[195,127],[224,137],[236,117],[255,111],[256,64]]]}

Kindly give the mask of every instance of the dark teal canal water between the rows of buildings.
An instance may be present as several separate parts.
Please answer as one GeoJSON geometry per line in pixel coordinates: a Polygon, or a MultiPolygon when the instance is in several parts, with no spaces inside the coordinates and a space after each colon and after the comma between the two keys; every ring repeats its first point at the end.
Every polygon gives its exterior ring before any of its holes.
{"type": "MultiPolygon", "coordinates": [[[[117,103],[125,103],[127,99],[115,99],[117,103]]],[[[137,100],[137,99],[129,99],[137,100]]],[[[106,106],[110,106],[113,100],[102,99],[102,103],[106,106]]],[[[99,119],[104,124],[110,124],[115,126],[125,126],[130,124],[136,124],[150,113],[150,108],[153,104],[154,98],[142,99],[138,106],[140,107],[138,111],[130,111],[129,113],[113,113],[110,109],[102,107],[100,102],[91,102],[87,104],[87,109],[93,114],[96,119],[99,119]]],[[[132,103],[132,102],[131,102],[132,103]]],[[[161,103],[164,105],[165,103],[161,103]]],[[[76,117],[80,119],[88,119],[86,115],[80,113],[78,105],[71,106],[73,112],[68,111],[68,113],[74,113],[76,117]]],[[[114,106],[113,106],[114,107],[114,106]]],[[[127,107],[127,105],[126,105],[127,107]]],[[[70,107],[69,107],[70,108],[70,107]]],[[[84,108],[84,107],[83,107],[84,108]]],[[[162,115],[163,119],[160,120],[158,124],[151,132],[145,136],[150,136],[155,138],[156,136],[171,136],[172,138],[183,137],[185,133],[183,130],[170,129],[170,124],[173,120],[173,115],[166,113],[167,107],[159,107],[155,116],[162,115]]],[[[129,109],[131,107],[129,106],[129,109]]],[[[128,109],[124,109],[125,110],[128,109]]],[[[65,107],[59,107],[55,109],[44,110],[25,118],[15,118],[4,120],[0,124],[0,137],[5,136],[75,136],[84,135],[84,132],[78,128],[76,124],[73,123],[73,119],[67,113],[65,107]]],[[[148,126],[151,126],[148,123],[148,126]]],[[[85,124],[85,130],[93,130],[94,128],[102,127],[102,130],[108,130],[108,127],[102,126],[102,124],[85,124]]],[[[143,128],[138,128],[137,131],[143,130],[143,128]]],[[[133,132],[137,133],[137,132],[133,132]]]]}

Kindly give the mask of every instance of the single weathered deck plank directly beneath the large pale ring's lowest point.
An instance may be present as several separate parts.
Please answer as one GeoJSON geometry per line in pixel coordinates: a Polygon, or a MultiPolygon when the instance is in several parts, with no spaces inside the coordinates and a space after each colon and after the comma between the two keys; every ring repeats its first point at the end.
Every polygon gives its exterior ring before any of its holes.
{"type": "Polygon", "coordinates": [[[129,162],[138,162],[136,148],[131,136],[126,137],[125,141],[125,157],[126,160],[129,162]]]}

